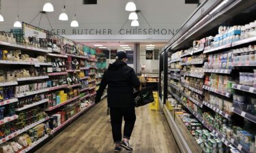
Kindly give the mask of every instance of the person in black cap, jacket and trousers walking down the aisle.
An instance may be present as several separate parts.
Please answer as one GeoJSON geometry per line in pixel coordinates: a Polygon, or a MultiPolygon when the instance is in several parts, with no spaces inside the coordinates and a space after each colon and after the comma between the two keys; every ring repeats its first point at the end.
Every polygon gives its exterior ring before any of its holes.
{"type": "Polygon", "coordinates": [[[117,52],[116,61],[109,65],[105,71],[100,88],[97,91],[96,103],[108,85],[108,106],[110,108],[112,134],[115,142],[115,152],[120,152],[121,147],[132,151],[129,139],[136,120],[133,88],[139,88],[141,82],[134,70],[126,64],[125,52],[117,52]],[[122,140],[122,120],[124,117],[124,137],[122,140]]]}

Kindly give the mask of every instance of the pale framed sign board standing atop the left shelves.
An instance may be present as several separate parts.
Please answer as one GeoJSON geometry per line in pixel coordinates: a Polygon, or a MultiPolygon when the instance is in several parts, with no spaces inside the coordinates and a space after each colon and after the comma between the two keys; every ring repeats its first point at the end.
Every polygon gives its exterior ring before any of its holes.
{"type": "Polygon", "coordinates": [[[25,37],[46,38],[46,31],[37,27],[33,27],[23,22],[23,32],[25,37]]]}

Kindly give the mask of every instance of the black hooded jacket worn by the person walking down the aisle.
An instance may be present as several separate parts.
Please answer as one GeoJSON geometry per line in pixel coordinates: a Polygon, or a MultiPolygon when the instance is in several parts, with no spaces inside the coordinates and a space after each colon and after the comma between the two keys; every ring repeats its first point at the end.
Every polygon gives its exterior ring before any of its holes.
{"type": "Polygon", "coordinates": [[[134,106],[133,88],[139,88],[141,82],[131,67],[122,61],[116,61],[109,65],[102,76],[95,99],[96,103],[100,101],[106,85],[108,85],[109,107],[132,107],[134,106]]]}

